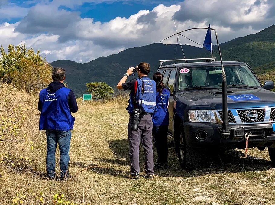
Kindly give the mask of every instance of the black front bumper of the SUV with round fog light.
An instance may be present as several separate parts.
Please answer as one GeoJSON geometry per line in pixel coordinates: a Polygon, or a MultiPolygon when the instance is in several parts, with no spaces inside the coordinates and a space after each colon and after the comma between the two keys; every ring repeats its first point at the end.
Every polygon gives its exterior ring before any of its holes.
{"type": "MultiPolygon", "coordinates": [[[[253,125],[241,125],[244,127],[244,133],[252,132],[255,135],[249,138],[248,147],[275,147],[275,132],[273,132],[272,125],[267,124],[253,124],[253,125]],[[259,136],[258,133],[264,133],[259,136]]],[[[193,148],[244,148],[245,138],[235,138],[232,128],[236,128],[238,125],[229,125],[231,135],[229,138],[222,138],[221,125],[212,123],[199,123],[199,122],[185,122],[184,133],[186,143],[189,147],[193,148]],[[196,135],[198,131],[205,131],[207,137],[205,139],[199,139],[196,135]]]]}

